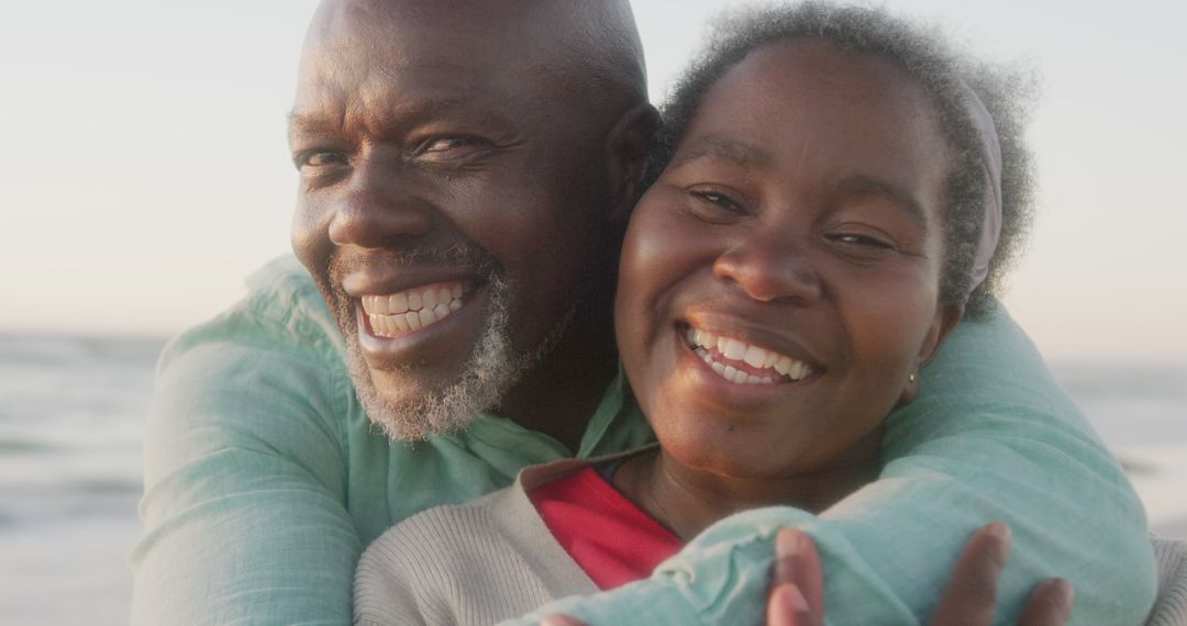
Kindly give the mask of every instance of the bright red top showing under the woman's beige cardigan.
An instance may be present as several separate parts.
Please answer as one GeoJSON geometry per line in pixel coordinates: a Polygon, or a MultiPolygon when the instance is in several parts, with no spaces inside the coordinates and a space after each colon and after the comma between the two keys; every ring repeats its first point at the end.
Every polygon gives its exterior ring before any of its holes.
{"type": "Polygon", "coordinates": [[[598,588],[650,576],[684,543],[592,467],[528,492],[544,523],[598,588]]]}

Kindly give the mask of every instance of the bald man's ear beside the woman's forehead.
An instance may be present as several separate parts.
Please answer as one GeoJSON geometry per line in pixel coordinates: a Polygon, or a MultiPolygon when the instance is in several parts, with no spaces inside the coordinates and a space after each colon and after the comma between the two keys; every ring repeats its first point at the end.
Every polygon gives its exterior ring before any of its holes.
{"type": "Polygon", "coordinates": [[[647,102],[631,107],[618,119],[607,139],[607,162],[610,183],[611,223],[626,224],[640,185],[647,174],[647,152],[652,136],[660,127],[660,114],[647,102]]]}

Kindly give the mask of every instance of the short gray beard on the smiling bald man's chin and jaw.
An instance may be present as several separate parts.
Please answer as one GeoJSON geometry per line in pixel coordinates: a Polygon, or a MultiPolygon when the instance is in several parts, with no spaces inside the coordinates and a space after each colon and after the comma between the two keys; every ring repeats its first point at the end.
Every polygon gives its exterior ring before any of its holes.
{"type": "Polygon", "coordinates": [[[497,275],[491,277],[487,327],[457,378],[410,400],[395,401],[380,394],[357,340],[348,340],[350,379],[372,423],[391,439],[424,441],[430,435],[464,430],[480,413],[497,407],[503,395],[552,351],[577,313],[575,304],[537,349],[516,354],[509,332],[510,293],[507,281],[497,275]]]}

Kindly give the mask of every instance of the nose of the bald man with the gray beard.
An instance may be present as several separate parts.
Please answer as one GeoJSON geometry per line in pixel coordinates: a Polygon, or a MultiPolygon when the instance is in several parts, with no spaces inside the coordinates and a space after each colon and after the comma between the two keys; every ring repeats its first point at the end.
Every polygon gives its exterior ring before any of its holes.
{"type": "Polygon", "coordinates": [[[385,248],[400,239],[429,232],[429,202],[407,180],[402,164],[363,159],[337,199],[330,221],[330,241],[336,245],[385,248]]]}

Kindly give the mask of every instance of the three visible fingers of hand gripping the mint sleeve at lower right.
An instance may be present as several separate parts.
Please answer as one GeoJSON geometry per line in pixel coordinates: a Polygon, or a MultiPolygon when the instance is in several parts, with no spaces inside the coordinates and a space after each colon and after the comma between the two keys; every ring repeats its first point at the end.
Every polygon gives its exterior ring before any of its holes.
{"type": "MultiPolygon", "coordinates": [[[[989,524],[978,530],[957,561],[932,626],[990,625],[997,606],[997,579],[1010,552],[1010,530],[989,524]]],[[[1039,583],[1020,626],[1061,626],[1072,615],[1073,592],[1061,579],[1039,583]]],[[[767,601],[767,626],[824,624],[824,569],[807,535],[783,529],[775,537],[775,566],[767,601]]],[[[561,622],[558,626],[570,626],[561,622]]]]}

